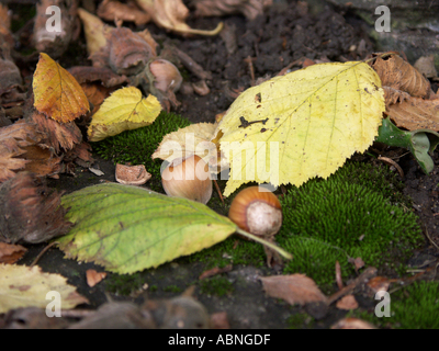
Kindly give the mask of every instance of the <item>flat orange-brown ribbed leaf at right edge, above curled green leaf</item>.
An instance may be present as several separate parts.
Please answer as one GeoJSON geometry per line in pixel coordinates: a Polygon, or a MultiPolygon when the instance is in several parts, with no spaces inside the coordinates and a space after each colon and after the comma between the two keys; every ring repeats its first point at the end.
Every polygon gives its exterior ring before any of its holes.
{"type": "Polygon", "coordinates": [[[408,131],[431,129],[439,132],[439,100],[408,98],[402,103],[392,104],[386,112],[398,127],[408,131]]]}

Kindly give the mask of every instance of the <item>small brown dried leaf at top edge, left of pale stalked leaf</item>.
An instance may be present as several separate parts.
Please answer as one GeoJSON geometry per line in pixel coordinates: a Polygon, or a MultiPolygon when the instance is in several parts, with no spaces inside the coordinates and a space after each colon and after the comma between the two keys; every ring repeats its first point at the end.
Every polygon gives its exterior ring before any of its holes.
{"type": "Polygon", "coordinates": [[[136,25],[146,24],[150,20],[148,13],[143,12],[134,2],[122,3],[104,0],[98,7],[98,15],[105,21],[127,21],[136,25]]]}

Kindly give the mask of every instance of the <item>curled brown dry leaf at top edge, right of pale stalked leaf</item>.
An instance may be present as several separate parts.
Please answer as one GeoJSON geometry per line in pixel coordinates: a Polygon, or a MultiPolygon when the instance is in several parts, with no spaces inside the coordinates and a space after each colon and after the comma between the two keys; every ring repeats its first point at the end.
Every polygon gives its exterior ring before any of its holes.
{"type": "Polygon", "coordinates": [[[193,0],[195,15],[221,16],[230,13],[243,13],[247,19],[255,20],[269,8],[272,0],[193,0]]]}

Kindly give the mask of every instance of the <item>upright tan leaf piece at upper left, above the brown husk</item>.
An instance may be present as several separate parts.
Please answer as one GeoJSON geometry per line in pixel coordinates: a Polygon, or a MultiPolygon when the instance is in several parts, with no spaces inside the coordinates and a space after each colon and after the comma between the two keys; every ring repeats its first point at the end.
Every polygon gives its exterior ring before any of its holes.
{"type": "Polygon", "coordinates": [[[110,30],[105,24],[94,14],[78,9],[78,15],[82,21],[83,31],[86,33],[87,52],[92,55],[106,44],[105,32],[110,30]]]}

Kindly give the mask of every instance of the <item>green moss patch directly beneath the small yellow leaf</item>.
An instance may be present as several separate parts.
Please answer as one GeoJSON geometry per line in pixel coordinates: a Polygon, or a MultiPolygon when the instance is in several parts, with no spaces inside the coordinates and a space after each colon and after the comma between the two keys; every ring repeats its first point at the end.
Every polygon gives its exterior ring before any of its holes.
{"type": "Polygon", "coordinates": [[[161,191],[160,166],[162,160],[151,159],[151,155],[165,135],[190,125],[180,115],[161,112],[156,121],[146,127],[126,131],[102,141],[93,143],[93,151],[103,159],[115,163],[145,165],[153,174],[150,188],[161,191]]]}

